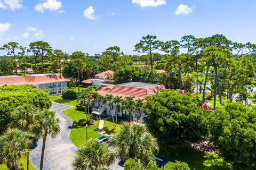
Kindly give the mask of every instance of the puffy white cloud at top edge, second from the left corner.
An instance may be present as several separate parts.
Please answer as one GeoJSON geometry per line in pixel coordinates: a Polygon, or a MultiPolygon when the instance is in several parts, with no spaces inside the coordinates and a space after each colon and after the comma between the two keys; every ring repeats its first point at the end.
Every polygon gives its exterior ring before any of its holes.
{"type": "Polygon", "coordinates": [[[38,12],[44,12],[44,10],[55,11],[58,13],[64,13],[65,11],[60,10],[62,2],[57,0],[46,0],[44,3],[39,3],[35,6],[35,10],[38,12]]]}

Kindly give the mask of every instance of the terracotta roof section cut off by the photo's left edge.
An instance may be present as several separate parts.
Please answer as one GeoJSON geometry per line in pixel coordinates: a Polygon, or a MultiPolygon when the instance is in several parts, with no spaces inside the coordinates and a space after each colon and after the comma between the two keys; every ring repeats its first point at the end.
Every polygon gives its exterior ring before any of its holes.
{"type": "Polygon", "coordinates": [[[0,76],[0,86],[5,84],[19,85],[28,84],[28,82],[24,77],[19,75],[0,76]]]}

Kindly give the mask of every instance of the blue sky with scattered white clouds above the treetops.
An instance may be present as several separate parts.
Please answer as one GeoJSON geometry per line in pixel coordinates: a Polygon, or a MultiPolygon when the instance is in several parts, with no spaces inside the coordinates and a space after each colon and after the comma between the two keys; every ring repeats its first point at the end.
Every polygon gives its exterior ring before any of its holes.
{"type": "Polygon", "coordinates": [[[0,0],[0,46],[42,40],[68,54],[119,46],[130,55],[142,36],[167,41],[217,33],[256,44],[255,6],[255,0],[0,0]]]}

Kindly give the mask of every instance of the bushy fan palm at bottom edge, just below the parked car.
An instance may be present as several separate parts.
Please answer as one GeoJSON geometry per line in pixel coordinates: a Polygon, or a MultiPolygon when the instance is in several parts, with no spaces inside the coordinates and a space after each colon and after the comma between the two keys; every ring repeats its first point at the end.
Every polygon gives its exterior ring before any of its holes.
{"type": "Polygon", "coordinates": [[[114,155],[110,153],[106,143],[89,139],[84,146],[77,149],[72,166],[75,170],[98,170],[113,162],[114,155]]]}

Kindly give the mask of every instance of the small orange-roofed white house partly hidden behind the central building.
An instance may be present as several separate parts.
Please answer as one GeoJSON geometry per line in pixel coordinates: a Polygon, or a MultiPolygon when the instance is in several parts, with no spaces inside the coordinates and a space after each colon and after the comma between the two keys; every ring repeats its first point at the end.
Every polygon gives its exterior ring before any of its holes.
{"type": "Polygon", "coordinates": [[[114,72],[111,70],[95,74],[95,79],[87,79],[81,83],[90,84],[92,86],[106,87],[114,85],[114,72]]]}

